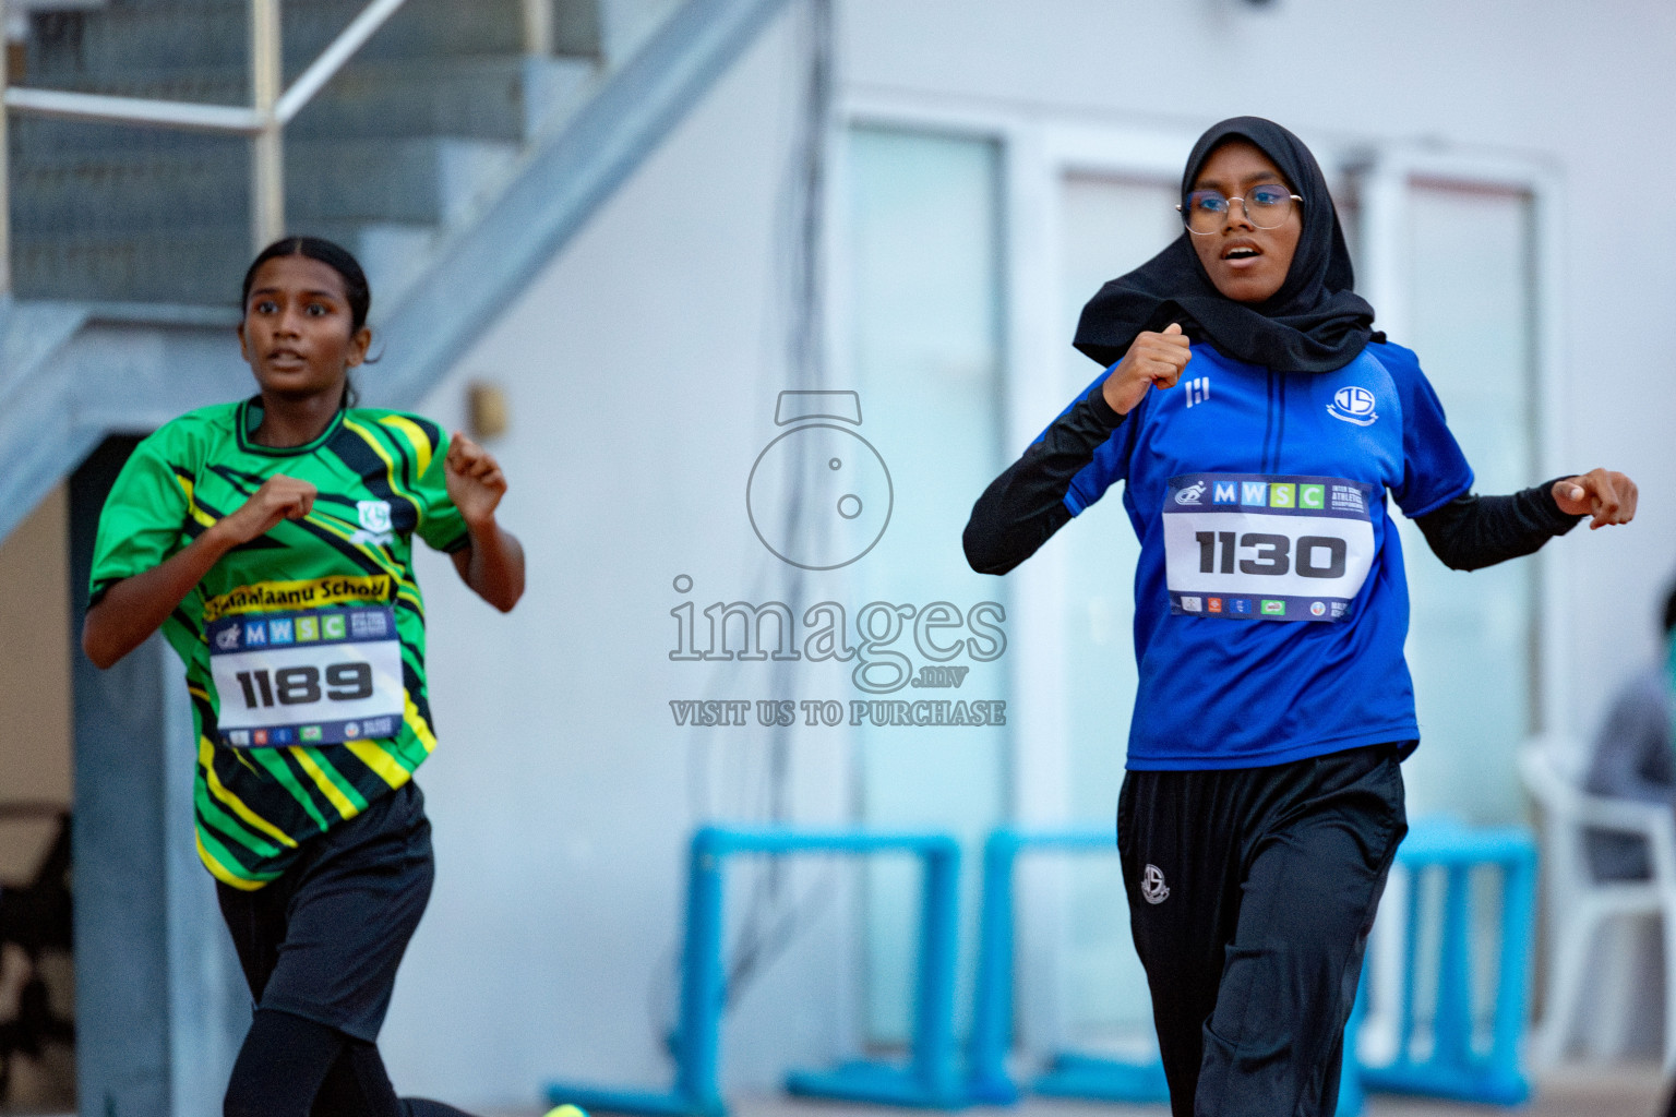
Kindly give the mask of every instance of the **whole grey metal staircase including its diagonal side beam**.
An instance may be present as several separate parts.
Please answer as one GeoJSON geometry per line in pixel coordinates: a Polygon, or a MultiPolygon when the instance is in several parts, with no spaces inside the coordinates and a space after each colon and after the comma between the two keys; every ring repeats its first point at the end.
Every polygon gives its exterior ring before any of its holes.
{"type": "MultiPolygon", "coordinates": [[[[365,394],[412,402],[784,0],[407,0],[285,124],[268,188],[283,203],[251,172],[260,137],[42,114],[35,90],[260,107],[261,3],[109,0],[30,20],[7,92],[0,539],[107,432],[248,390],[226,330],[263,206],[360,256],[387,353],[365,394]]],[[[364,8],[285,0],[282,85],[364,8]]]]}

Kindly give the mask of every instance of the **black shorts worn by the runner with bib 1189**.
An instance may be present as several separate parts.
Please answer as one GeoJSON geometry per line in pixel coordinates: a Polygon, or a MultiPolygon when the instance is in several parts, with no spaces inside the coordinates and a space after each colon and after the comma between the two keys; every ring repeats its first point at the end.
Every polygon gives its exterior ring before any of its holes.
{"type": "Polygon", "coordinates": [[[256,1008],[377,1042],[432,876],[431,822],[409,780],[310,837],[266,886],[246,893],[218,883],[256,1008]]]}

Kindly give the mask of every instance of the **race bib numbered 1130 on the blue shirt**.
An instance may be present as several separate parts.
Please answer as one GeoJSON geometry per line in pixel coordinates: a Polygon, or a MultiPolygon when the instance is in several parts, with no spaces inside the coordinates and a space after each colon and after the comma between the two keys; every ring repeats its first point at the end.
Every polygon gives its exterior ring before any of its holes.
{"type": "Polygon", "coordinates": [[[1172,477],[1163,506],[1170,611],[1344,620],[1373,568],[1373,486],[1344,477],[1172,477]]]}

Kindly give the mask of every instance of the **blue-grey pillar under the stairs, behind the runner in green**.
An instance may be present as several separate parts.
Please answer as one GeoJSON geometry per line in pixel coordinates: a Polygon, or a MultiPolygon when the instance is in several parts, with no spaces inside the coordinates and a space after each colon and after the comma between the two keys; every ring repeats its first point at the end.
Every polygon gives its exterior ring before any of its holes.
{"type": "Polygon", "coordinates": [[[161,636],[107,672],[80,655],[99,511],[136,442],[70,479],[77,1089],[84,1117],[213,1117],[250,1005],[193,847],[181,665],[161,636]]]}

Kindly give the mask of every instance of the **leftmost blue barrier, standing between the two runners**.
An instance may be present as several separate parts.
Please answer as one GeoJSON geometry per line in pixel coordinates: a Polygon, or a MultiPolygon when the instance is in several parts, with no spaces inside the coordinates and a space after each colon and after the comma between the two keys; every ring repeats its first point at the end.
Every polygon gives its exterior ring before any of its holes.
{"type": "Polygon", "coordinates": [[[830,1072],[794,1072],[791,1094],[885,1105],[959,1109],[965,1105],[954,1043],[955,936],[960,846],[947,834],[793,831],[707,826],[692,836],[687,864],[687,929],[680,971],[680,1028],[675,1084],[669,1092],[618,1090],[555,1082],[548,1099],[585,1110],[654,1117],[721,1117],[717,1042],[726,1006],[722,968],[722,861],[736,854],[908,852],[925,864],[920,908],[913,1052],[907,1067],[851,1062],[830,1072]]]}

